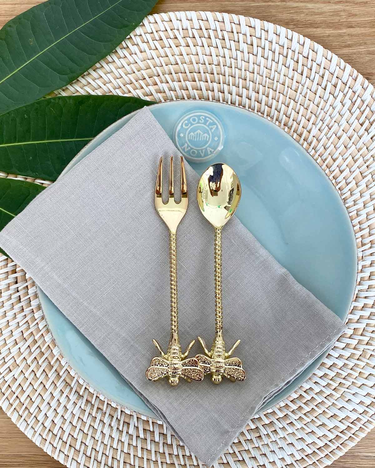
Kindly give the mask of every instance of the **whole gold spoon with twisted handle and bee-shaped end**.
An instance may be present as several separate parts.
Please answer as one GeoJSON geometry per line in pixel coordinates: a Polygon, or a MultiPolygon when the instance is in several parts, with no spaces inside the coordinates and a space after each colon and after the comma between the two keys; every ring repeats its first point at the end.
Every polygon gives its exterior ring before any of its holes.
{"type": "Polygon", "coordinates": [[[196,356],[205,374],[211,374],[215,384],[225,375],[232,380],[245,380],[239,358],[231,358],[240,344],[237,340],[229,352],[225,351],[223,338],[223,308],[221,303],[221,230],[231,219],[240,203],[241,184],[237,174],[227,164],[213,164],[207,168],[198,183],[197,199],[203,216],[215,228],[215,339],[208,351],[203,339],[198,336],[205,355],[196,356]]]}

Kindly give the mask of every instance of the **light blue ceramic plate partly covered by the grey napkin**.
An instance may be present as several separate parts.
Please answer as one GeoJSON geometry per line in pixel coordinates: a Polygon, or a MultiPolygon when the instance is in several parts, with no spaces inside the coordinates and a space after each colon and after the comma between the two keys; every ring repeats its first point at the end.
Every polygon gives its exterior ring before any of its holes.
{"type": "MultiPolygon", "coordinates": [[[[356,282],[356,242],[338,192],[312,157],[275,124],[234,106],[177,101],[149,109],[176,146],[194,161],[192,166],[198,174],[209,165],[208,161],[226,162],[234,168],[242,186],[236,212],[242,223],[300,284],[344,319],[356,282]]],[[[131,117],[105,129],[65,172],[131,117]]],[[[154,416],[114,367],[40,290],[39,299],[56,343],[82,378],[113,401],[154,416]]],[[[292,393],[323,358],[317,358],[267,408],[292,393]]]]}

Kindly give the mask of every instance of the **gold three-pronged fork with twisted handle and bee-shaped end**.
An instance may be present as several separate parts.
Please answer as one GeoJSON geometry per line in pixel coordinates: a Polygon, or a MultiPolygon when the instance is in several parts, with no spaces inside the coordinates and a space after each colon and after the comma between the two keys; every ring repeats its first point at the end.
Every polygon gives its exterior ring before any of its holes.
{"type": "Polygon", "coordinates": [[[170,385],[176,386],[180,378],[189,382],[191,380],[203,380],[203,370],[198,365],[196,358],[187,358],[195,340],[193,340],[186,351],[183,353],[179,337],[179,318],[177,307],[177,251],[176,251],[176,231],[181,219],[188,209],[188,186],[186,183],[186,174],[183,158],[181,157],[181,201],[176,203],[174,200],[173,189],[173,157],[171,157],[169,166],[169,198],[167,203],[162,200],[162,163],[160,158],[158,176],[155,187],[155,208],[159,216],[169,229],[169,270],[170,270],[170,288],[171,288],[171,338],[166,353],[156,340],[152,340],[160,352],[161,357],[151,360],[150,367],[146,371],[146,377],[149,380],[159,380],[168,376],[170,385]]]}

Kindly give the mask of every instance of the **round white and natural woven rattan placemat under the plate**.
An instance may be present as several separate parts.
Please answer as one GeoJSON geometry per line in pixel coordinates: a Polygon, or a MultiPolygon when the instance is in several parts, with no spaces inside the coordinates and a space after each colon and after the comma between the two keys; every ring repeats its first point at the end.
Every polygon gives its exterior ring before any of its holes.
{"type": "MultiPolygon", "coordinates": [[[[345,333],[311,378],[249,421],[218,461],[232,468],[330,464],[375,426],[373,86],[335,54],[280,26],[180,12],[148,16],[58,92],[88,93],[242,106],[289,133],[336,186],[359,259],[345,333]]],[[[70,368],[32,279],[5,257],[0,264],[0,404],[15,424],[69,467],[198,465],[165,425],[108,400],[70,368]]]]}

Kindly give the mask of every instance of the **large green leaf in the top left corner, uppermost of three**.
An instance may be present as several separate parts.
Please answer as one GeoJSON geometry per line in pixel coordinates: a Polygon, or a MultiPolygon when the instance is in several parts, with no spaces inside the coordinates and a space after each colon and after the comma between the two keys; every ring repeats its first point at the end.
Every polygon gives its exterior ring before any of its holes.
{"type": "Polygon", "coordinates": [[[0,114],[75,80],[108,55],[157,0],[49,0],[0,29],[0,114]]]}

